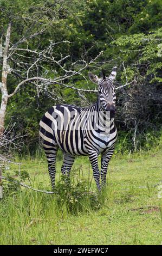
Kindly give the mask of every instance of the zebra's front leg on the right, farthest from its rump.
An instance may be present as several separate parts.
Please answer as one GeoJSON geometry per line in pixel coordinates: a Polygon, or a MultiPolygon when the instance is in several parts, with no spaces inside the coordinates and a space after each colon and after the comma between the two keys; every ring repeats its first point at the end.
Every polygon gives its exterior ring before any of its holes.
{"type": "Polygon", "coordinates": [[[104,187],[106,184],[107,168],[113,152],[114,149],[109,149],[106,153],[101,155],[101,187],[104,187]]]}

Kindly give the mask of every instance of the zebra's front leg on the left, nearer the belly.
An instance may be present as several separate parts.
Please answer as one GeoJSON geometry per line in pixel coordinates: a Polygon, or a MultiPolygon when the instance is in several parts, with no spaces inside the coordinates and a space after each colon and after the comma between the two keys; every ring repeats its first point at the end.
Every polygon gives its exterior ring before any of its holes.
{"type": "Polygon", "coordinates": [[[93,169],[93,176],[96,182],[96,186],[98,188],[98,190],[101,190],[100,187],[100,170],[99,170],[99,165],[98,165],[98,153],[96,153],[95,151],[91,152],[89,154],[89,161],[92,165],[92,169],[93,169]]]}

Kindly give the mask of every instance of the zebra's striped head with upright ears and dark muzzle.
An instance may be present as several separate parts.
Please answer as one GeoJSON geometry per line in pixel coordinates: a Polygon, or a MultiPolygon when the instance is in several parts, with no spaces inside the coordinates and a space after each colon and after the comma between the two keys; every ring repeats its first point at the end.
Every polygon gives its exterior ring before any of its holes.
{"type": "Polygon", "coordinates": [[[98,96],[98,103],[99,106],[103,109],[103,111],[109,111],[111,114],[111,117],[114,117],[115,114],[115,86],[113,84],[113,81],[116,77],[116,66],[113,68],[111,75],[108,77],[105,75],[105,73],[102,70],[101,78],[98,76],[92,74],[91,72],[88,73],[89,79],[93,83],[98,84],[99,89],[99,96],[98,96]]]}

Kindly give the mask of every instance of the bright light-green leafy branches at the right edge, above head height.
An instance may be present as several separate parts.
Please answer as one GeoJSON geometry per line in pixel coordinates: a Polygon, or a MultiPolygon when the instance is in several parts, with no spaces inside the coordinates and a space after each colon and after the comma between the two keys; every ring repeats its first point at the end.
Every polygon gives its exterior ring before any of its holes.
{"type": "MultiPolygon", "coordinates": [[[[150,83],[157,81],[161,83],[161,44],[162,29],[150,31],[148,34],[133,34],[120,36],[112,44],[117,46],[116,50],[120,58],[128,66],[126,69],[128,80],[134,75],[142,77],[142,81],[151,77],[150,83]]],[[[125,77],[123,73],[121,78],[125,77]]]]}

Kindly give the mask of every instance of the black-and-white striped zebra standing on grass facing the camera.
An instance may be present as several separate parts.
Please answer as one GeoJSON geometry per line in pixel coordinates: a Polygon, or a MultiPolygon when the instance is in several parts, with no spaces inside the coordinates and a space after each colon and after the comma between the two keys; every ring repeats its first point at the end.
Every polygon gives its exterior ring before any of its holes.
{"type": "Polygon", "coordinates": [[[98,100],[94,105],[83,108],[59,104],[49,108],[40,121],[39,133],[47,156],[52,188],[55,187],[55,163],[59,148],[63,151],[63,175],[70,175],[76,156],[89,156],[98,190],[106,184],[108,163],[117,138],[114,123],[116,96],[113,84],[116,66],[109,77],[106,77],[103,70],[101,78],[92,72],[88,72],[88,76],[90,81],[98,84],[98,100]],[[106,129],[108,132],[105,132],[106,129]],[[99,154],[101,173],[98,166],[99,154]]]}

